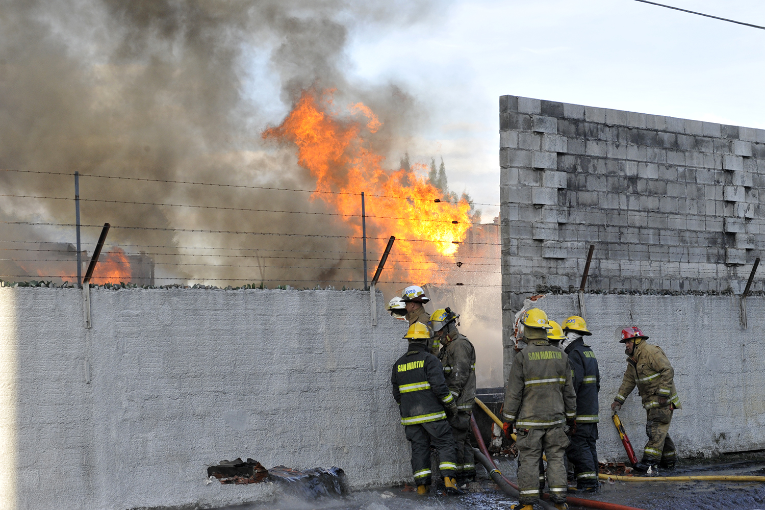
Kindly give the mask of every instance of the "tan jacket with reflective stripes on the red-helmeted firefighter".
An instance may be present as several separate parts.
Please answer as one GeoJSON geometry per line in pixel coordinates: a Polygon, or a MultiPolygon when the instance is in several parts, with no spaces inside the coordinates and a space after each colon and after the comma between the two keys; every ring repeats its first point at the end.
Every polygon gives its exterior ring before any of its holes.
{"type": "Polygon", "coordinates": [[[652,346],[645,340],[636,343],[632,357],[627,358],[627,371],[624,372],[622,385],[615,401],[623,404],[632,390],[643,399],[643,408],[660,408],[674,404],[681,408],[675,389],[675,370],[669,364],[664,351],[659,346],[652,346]],[[659,404],[659,397],[665,397],[667,403],[659,404]]]}

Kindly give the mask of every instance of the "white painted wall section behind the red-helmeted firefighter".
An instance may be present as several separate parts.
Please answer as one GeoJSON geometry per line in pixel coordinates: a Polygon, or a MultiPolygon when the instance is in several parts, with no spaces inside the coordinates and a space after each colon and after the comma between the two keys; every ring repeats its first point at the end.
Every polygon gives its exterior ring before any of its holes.
{"type": "MultiPolygon", "coordinates": [[[[681,456],[765,448],[763,297],[747,299],[747,330],[740,326],[738,297],[585,294],[585,303],[593,333],[586,343],[601,370],[601,459],[627,460],[611,422],[610,403],[627,368],[621,330],[633,325],[650,336],[648,343],[664,350],[675,369],[683,408],[675,411],[669,435],[681,456]]],[[[575,294],[545,297],[539,307],[561,323],[579,314],[575,294]]],[[[646,411],[637,389],[619,416],[640,459],[647,441],[646,411]]]]}

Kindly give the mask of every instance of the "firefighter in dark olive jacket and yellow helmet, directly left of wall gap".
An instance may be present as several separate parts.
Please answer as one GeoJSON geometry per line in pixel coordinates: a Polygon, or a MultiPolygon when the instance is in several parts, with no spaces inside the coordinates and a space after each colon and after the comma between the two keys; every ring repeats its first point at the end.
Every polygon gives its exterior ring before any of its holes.
{"type": "Polygon", "coordinates": [[[446,385],[457,401],[457,414],[449,417],[449,424],[457,443],[457,482],[461,486],[476,479],[469,433],[470,414],[473,413],[476,398],[476,349],[457,330],[459,317],[450,308],[441,308],[431,315],[430,325],[433,335],[444,346],[438,352],[438,359],[444,365],[446,385]]]}

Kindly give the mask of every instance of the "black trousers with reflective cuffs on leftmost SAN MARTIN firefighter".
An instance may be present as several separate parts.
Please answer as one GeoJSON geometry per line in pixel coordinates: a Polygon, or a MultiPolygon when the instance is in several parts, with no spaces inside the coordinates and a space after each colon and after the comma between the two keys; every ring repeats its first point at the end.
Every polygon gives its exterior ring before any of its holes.
{"type": "Polygon", "coordinates": [[[425,424],[407,425],[406,439],[412,444],[412,473],[418,486],[427,486],[431,482],[431,444],[438,450],[441,463],[438,469],[441,476],[454,477],[457,471],[457,453],[454,449],[454,436],[448,421],[429,421],[425,424]]]}

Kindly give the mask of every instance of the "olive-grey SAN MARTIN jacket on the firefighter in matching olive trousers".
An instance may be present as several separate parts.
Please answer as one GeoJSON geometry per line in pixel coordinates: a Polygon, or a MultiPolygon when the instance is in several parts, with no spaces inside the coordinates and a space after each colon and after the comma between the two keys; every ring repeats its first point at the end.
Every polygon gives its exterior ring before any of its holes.
{"type": "Polygon", "coordinates": [[[504,421],[516,428],[562,427],[576,416],[568,356],[546,339],[527,339],[516,354],[505,388],[504,421]]]}

